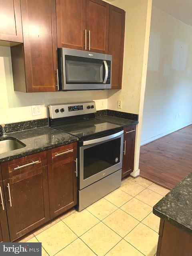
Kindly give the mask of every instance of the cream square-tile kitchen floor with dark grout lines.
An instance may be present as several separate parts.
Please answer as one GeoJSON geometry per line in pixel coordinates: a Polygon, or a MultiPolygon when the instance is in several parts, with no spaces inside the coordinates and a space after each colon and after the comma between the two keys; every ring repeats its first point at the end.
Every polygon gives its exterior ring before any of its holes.
{"type": "Polygon", "coordinates": [[[160,219],[152,213],[169,190],[141,177],[82,212],[71,212],[22,242],[42,242],[43,256],[154,256],[160,219]]]}

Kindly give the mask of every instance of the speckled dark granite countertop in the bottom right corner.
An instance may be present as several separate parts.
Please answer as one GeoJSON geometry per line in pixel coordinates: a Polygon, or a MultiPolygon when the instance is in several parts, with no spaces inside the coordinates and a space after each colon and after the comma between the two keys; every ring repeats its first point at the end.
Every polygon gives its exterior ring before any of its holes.
{"type": "Polygon", "coordinates": [[[192,235],[192,172],[153,207],[153,213],[192,235]]]}

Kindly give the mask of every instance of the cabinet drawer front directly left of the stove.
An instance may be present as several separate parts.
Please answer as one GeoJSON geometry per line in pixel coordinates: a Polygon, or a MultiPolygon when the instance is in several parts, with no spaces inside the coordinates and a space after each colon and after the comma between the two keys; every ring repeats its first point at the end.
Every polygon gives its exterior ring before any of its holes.
{"type": "Polygon", "coordinates": [[[47,163],[53,164],[67,158],[76,158],[77,144],[71,143],[47,151],[47,163]]]}

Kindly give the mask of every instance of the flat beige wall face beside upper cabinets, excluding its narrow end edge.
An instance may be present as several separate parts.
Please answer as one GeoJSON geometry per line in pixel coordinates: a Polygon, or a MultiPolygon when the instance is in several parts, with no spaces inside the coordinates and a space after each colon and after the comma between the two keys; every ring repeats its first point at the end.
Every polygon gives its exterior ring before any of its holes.
{"type": "Polygon", "coordinates": [[[108,92],[108,108],[139,114],[148,0],[116,0],[126,11],[122,90],[108,92]],[[117,108],[122,100],[122,109],[117,108]]]}

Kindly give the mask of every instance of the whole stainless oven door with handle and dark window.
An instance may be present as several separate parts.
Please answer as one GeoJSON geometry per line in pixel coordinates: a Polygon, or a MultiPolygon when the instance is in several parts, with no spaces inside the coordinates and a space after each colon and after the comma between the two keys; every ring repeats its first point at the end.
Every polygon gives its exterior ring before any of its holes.
{"type": "Polygon", "coordinates": [[[80,190],[122,168],[123,131],[83,142],[80,190]]]}

